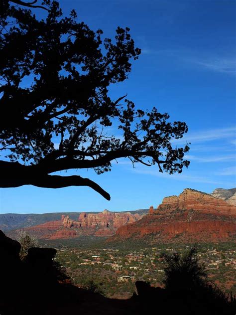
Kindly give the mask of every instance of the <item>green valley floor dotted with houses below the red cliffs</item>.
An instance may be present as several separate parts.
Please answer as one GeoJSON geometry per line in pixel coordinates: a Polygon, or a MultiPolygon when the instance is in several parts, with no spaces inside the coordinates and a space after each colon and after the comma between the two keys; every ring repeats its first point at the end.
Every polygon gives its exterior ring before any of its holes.
{"type": "MultiPolygon", "coordinates": [[[[83,237],[74,240],[46,241],[47,247],[55,247],[58,252],[56,261],[65,268],[72,282],[82,288],[92,288],[110,298],[129,298],[136,291],[135,281],[148,281],[152,286],[163,287],[166,255],[179,253],[178,264],[184,259],[182,254],[192,245],[156,244],[153,247],[139,242],[129,246],[117,244],[111,246],[104,238],[83,237]],[[119,246],[120,245],[120,246],[119,246]],[[144,245],[141,247],[141,245],[144,245]],[[131,268],[130,268],[131,267],[131,268]],[[135,281],[118,282],[123,276],[135,277],[135,281]]],[[[196,264],[206,266],[208,281],[217,285],[223,292],[236,294],[234,281],[236,268],[236,244],[195,244],[196,264]]],[[[174,254],[176,255],[176,254],[174,254]]],[[[167,257],[167,256],[166,256],[167,257]]],[[[195,265],[196,267],[196,265],[195,265]]]]}

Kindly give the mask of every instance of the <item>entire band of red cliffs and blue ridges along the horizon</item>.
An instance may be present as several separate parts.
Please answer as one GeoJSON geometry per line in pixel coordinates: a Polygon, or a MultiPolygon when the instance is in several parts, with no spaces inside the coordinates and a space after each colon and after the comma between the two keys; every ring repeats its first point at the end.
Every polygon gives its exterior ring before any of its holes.
{"type": "Polygon", "coordinates": [[[173,241],[173,238],[174,241],[183,242],[232,240],[236,234],[235,197],[236,188],[217,188],[212,194],[187,188],[179,196],[165,197],[157,210],[150,207],[148,215],[148,209],[120,212],[6,213],[0,214],[0,229],[11,237],[15,237],[19,229],[26,229],[37,238],[46,239],[112,236],[118,229],[114,240],[122,239],[123,235],[124,239],[127,239],[127,235],[133,238],[133,231],[136,238],[140,235],[145,238],[152,234],[153,239],[156,239],[159,233],[158,238],[164,242],[167,239],[173,241]]]}

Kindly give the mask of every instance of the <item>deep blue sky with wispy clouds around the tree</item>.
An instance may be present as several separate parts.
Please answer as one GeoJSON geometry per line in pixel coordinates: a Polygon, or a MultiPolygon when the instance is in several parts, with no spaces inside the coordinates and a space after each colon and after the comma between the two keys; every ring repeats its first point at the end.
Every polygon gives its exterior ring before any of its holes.
{"type": "MultiPolygon", "coordinates": [[[[125,159],[109,173],[78,173],[111,194],[105,200],[88,187],[46,189],[33,186],[0,190],[0,213],[135,210],[156,207],[164,196],[190,187],[212,192],[236,186],[236,2],[213,0],[61,0],[92,29],[114,37],[130,27],[141,56],[129,79],[110,89],[112,98],[128,93],[138,108],[155,106],[170,120],[185,121],[191,142],[190,167],[161,174],[156,167],[125,159]]],[[[42,14],[37,11],[37,14],[42,14]]],[[[71,174],[72,171],[67,172],[71,174]]]]}

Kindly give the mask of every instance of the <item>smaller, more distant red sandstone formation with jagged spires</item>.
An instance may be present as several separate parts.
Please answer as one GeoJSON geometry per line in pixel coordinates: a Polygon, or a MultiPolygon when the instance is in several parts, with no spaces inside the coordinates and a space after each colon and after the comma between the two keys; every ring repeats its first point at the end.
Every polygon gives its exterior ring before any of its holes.
{"type": "Polygon", "coordinates": [[[111,236],[120,226],[136,222],[142,216],[138,213],[115,213],[109,210],[96,214],[82,212],[77,220],[71,220],[68,215],[62,215],[61,220],[46,222],[24,230],[42,239],[67,239],[90,235],[111,236]]]}

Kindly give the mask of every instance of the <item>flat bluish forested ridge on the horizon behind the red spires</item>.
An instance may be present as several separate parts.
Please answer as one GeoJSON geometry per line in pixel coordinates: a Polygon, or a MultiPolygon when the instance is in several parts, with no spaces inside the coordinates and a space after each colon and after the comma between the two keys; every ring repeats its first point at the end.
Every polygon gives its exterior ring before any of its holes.
{"type": "MultiPolygon", "coordinates": [[[[146,214],[148,209],[139,209],[133,211],[114,211],[115,213],[123,213],[123,212],[130,212],[132,214],[146,214]]],[[[34,225],[43,224],[50,221],[57,221],[61,219],[62,215],[69,216],[72,220],[77,220],[80,216],[81,212],[53,212],[53,213],[43,213],[43,214],[18,214],[18,213],[5,213],[0,214],[0,230],[7,232],[10,230],[27,228],[34,225]]],[[[96,212],[86,212],[86,213],[99,213],[96,212]]]]}

